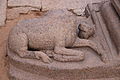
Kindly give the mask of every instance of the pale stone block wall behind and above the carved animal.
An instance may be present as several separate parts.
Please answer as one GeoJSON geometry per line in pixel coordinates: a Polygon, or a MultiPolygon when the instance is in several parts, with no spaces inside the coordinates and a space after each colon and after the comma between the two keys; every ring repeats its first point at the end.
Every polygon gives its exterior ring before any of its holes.
{"type": "Polygon", "coordinates": [[[4,26],[6,19],[16,19],[20,14],[29,11],[47,11],[52,9],[72,9],[81,15],[88,3],[105,0],[0,0],[0,26],[4,26]],[[7,11],[7,12],[6,12],[7,11]],[[7,14],[7,15],[6,15],[7,14]]]}

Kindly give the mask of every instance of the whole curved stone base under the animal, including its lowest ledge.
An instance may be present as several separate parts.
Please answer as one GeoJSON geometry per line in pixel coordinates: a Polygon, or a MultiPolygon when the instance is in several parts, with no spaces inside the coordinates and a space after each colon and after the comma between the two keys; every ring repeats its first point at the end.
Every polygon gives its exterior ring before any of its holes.
{"type": "Polygon", "coordinates": [[[120,76],[119,64],[105,64],[89,52],[86,53],[87,58],[83,62],[53,61],[50,64],[40,60],[22,59],[12,52],[9,52],[8,56],[11,80],[80,80],[120,76]]]}

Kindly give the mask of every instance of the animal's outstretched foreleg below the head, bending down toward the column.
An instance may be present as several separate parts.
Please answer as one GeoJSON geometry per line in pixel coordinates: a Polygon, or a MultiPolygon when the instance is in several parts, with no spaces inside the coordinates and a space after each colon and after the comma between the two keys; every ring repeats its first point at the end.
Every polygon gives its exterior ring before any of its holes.
{"type": "Polygon", "coordinates": [[[100,55],[101,60],[103,62],[108,62],[108,58],[106,56],[105,50],[103,50],[102,45],[100,43],[95,43],[87,39],[77,38],[76,42],[74,43],[72,47],[90,47],[91,49],[96,51],[98,55],[100,55]]]}

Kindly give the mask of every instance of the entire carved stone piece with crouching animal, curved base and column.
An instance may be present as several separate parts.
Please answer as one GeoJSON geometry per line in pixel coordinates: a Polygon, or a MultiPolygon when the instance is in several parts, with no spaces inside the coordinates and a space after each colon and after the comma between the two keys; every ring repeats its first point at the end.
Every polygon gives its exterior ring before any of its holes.
{"type": "Polygon", "coordinates": [[[9,79],[119,80],[118,2],[88,4],[82,17],[52,10],[20,21],[8,38],[9,79]]]}

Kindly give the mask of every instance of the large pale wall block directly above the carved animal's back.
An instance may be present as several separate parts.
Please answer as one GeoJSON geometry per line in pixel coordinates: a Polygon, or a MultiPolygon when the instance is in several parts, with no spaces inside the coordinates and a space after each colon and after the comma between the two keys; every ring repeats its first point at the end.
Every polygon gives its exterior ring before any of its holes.
{"type": "Polygon", "coordinates": [[[81,9],[83,10],[88,3],[100,2],[105,0],[43,0],[43,10],[49,9],[81,9]]]}

